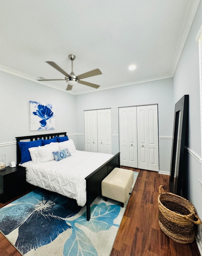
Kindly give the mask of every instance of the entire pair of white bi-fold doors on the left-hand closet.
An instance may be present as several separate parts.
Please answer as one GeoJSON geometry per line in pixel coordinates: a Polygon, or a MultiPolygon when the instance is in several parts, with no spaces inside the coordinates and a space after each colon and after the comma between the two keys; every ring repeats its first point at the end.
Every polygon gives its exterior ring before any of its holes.
{"type": "Polygon", "coordinates": [[[85,151],[111,154],[111,109],[84,111],[85,151]]]}

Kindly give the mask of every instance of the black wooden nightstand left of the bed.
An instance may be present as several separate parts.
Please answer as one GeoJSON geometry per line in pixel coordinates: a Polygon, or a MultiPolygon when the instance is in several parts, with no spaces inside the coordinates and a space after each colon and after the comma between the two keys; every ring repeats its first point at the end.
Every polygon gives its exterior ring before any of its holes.
{"type": "Polygon", "coordinates": [[[23,194],[27,190],[26,168],[22,166],[10,167],[0,171],[0,203],[23,194]]]}

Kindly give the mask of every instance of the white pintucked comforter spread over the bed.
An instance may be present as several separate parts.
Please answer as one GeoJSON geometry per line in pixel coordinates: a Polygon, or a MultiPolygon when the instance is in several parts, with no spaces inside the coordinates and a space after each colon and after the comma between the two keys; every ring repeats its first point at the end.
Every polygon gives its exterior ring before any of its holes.
{"type": "Polygon", "coordinates": [[[35,186],[57,192],[76,199],[78,205],[86,203],[86,176],[103,165],[113,155],[79,151],[60,161],[51,160],[42,164],[28,161],[21,164],[26,167],[27,182],[35,186]]]}

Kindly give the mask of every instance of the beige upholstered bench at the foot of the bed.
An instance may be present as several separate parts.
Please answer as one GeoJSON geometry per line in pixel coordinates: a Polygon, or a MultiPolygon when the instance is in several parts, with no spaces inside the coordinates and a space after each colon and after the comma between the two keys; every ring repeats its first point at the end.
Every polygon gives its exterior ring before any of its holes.
{"type": "Polygon", "coordinates": [[[105,201],[111,198],[121,202],[121,207],[123,207],[132,185],[133,171],[114,168],[102,181],[102,196],[105,198],[105,201]]]}

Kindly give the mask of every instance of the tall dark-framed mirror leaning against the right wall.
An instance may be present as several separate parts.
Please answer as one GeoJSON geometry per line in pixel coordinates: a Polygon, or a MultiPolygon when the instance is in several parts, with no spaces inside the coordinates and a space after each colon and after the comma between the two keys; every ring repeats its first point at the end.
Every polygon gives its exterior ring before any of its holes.
{"type": "Polygon", "coordinates": [[[181,196],[183,171],[185,170],[185,140],[187,128],[189,95],[184,95],[175,104],[172,152],[170,162],[169,189],[170,192],[181,196]]]}

